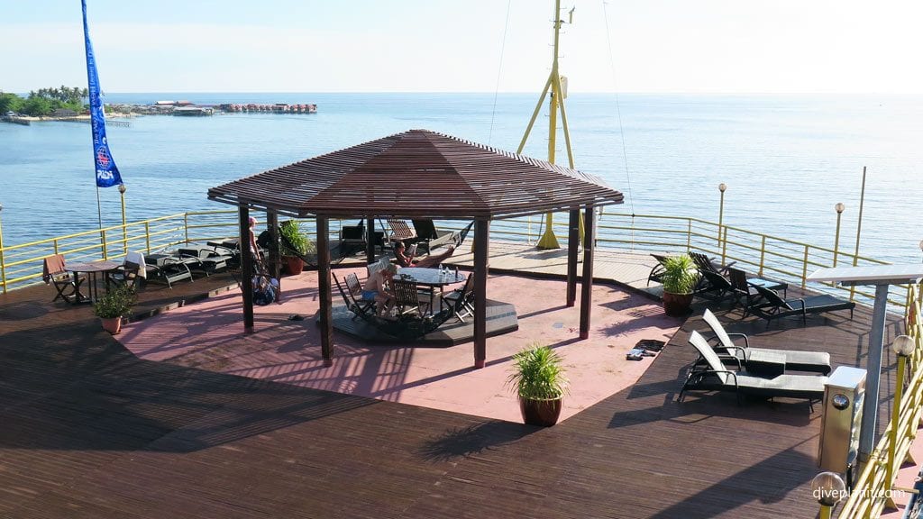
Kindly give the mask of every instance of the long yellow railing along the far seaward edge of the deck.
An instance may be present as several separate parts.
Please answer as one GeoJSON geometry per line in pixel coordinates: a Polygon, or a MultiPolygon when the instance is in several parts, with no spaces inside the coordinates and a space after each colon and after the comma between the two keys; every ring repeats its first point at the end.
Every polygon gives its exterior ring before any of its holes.
{"type": "MultiPolygon", "coordinates": [[[[567,236],[566,214],[555,219],[555,231],[567,236]]],[[[330,234],[340,233],[343,221],[330,223],[330,234]]],[[[347,220],[347,223],[354,223],[347,220]]],[[[316,241],[315,222],[306,219],[303,228],[316,241]]],[[[449,224],[447,227],[457,226],[449,224]]],[[[491,224],[491,239],[535,243],[544,233],[544,223],[533,218],[514,218],[491,224]]],[[[605,213],[597,225],[599,247],[638,252],[701,251],[761,276],[775,277],[790,284],[807,284],[810,272],[840,264],[881,264],[883,261],[856,256],[843,250],[818,247],[787,238],[765,235],[698,218],[653,214],[605,213]]],[[[41,279],[42,258],[61,253],[69,261],[119,258],[126,250],[156,251],[188,242],[201,242],[238,235],[237,213],[229,211],[185,212],[142,222],[115,225],[102,230],[57,236],[27,244],[0,248],[0,283],[8,289],[37,283],[41,279]]],[[[566,238],[563,240],[566,243],[566,238]]],[[[819,287],[828,292],[843,292],[833,285],[819,287]]],[[[905,290],[909,287],[904,287],[905,290]]],[[[893,311],[905,312],[906,297],[892,291],[893,311]]],[[[870,303],[874,294],[861,289],[850,297],[870,303]]]]}

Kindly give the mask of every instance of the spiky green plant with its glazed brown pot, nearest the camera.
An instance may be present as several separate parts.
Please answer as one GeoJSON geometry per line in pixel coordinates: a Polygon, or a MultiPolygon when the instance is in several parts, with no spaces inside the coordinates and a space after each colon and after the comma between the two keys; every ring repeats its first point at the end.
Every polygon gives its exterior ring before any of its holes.
{"type": "Polygon", "coordinates": [[[513,372],[507,382],[519,397],[522,421],[549,427],[561,414],[568,379],[561,356],[542,344],[530,344],[513,356],[513,372]]]}

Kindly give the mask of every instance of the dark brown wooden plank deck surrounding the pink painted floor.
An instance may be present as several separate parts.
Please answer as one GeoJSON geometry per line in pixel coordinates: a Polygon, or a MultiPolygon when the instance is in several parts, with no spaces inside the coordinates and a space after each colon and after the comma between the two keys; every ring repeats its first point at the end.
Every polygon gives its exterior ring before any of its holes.
{"type": "MultiPolygon", "coordinates": [[[[502,251],[501,251],[502,252],[502,251]]],[[[545,253],[542,253],[543,255],[545,253]]],[[[462,257],[460,257],[462,258],[462,257]]],[[[597,253],[597,276],[643,271],[597,253]]],[[[515,259],[512,262],[533,261],[515,259]]],[[[563,259],[561,259],[563,263],[563,259]]],[[[501,265],[492,257],[492,267],[501,265]]],[[[540,266],[535,269],[542,269],[540,266]]],[[[152,287],[140,312],[226,276],[152,287]]],[[[251,380],[131,356],[52,289],[0,296],[0,516],[814,517],[820,406],[692,393],[688,320],[632,388],[554,428],[251,380]]],[[[869,309],[764,323],[754,345],[864,366],[869,309]]],[[[693,315],[701,315],[697,311],[693,315]]],[[[887,327],[890,343],[897,332],[887,327]]],[[[893,394],[882,377],[881,428],[893,394]]]]}

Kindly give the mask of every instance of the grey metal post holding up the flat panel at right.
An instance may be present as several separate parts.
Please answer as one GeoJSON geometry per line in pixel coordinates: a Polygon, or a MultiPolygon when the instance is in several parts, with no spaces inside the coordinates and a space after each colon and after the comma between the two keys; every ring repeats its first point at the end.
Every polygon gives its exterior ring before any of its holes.
{"type": "Polygon", "coordinates": [[[888,284],[875,286],[875,307],[872,310],[869,332],[869,374],[866,379],[866,397],[862,406],[862,426],[859,432],[859,460],[863,463],[869,461],[869,456],[875,448],[875,420],[878,417],[881,352],[884,348],[884,321],[888,308],[889,287],[888,284]]]}

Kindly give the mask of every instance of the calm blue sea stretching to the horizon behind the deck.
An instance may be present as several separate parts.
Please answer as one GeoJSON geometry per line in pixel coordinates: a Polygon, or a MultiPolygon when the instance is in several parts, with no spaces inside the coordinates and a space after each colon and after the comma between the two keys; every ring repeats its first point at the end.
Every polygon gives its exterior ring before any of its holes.
{"type": "MultiPolygon", "coordinates": [[[[209,187],[411,128],[515,151],[534,93],[150,93],[106,103],[318,103],[316,115],[144,116],[109,127],[126,182],[128,220],[229,209],[209,187]]],[[[607,212],[696,216],[833,247],[855,246],[868,168],[860,254],[920,260],[923,97],[571,94],[577,169],[600,175],[626,203],[607,212]]],[[[541,115],[524,154],[546,159],[541,115]]],[[[0,124],[0,213],[6,245],[96,228],[90,126],[0,124]]],[[[557,163],[567,163],[557,139],[557,163]]],[[[118,191],[99,191],[104,225],[121,222],[118,191]]],[[[605,223],[606,217],[603,217],[605,223]]]]}

